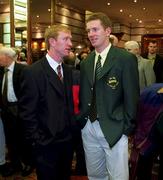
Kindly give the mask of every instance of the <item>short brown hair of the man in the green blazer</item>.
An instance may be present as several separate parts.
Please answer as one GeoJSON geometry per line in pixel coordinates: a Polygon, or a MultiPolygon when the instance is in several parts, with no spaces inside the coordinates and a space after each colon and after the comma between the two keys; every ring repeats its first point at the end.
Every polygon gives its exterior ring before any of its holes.
{"type": "Polygon", "coordinates": [[[97,12],[97,13],[92,13],[90,16],[88,16],[88,18],[86,19],[86,23],[88,23],[89,21],[93,21],[93,20],[100,20],[102,26],[106,29],[108,27],[112,27],[112,22],[110,20],[110,18],[102,13],[102,12],[97,12]]]}

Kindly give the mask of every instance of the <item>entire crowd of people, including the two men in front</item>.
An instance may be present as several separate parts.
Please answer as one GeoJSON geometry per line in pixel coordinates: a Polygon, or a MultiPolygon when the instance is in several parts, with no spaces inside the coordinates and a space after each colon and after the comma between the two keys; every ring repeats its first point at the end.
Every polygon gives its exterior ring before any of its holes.
{"type": "Polygon", "coordinates": [[[136,41],[117,47],[111,21],[101,12],[86,19],[86,32],[93,50],[76,55],[69,27],[47,28],[47,53],[31,65],[26,52],[0,47],[3,177],[36,169],[38,180],[69,180],[72,174],[151,180],[159,159],[163,179],[163,58],[157,41],[149,41],[142,56],[136,41]]]}

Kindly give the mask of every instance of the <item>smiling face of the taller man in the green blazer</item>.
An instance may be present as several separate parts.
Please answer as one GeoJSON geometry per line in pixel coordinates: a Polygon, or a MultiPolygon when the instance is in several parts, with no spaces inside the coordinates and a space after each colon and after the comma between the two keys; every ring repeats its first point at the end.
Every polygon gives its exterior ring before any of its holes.
{"type": "Polygon", "coordinates": [[[102,52],[109,44],[109,36],[111,29],[104,28],[100,20],[92,20],[87,22],[86,30],[88,38],[92,46],[97,50],[97,52],[102,52]]]}

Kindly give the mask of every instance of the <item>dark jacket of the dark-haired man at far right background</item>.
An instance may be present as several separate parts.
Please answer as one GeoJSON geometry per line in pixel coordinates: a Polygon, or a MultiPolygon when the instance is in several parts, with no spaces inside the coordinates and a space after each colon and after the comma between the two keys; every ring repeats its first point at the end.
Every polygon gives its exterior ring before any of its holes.
{"type": "MultiPolygon", "coordinates": [[[[148,59],[148,54],[144,54],[143,57],[148,59]]],[[[163,57],[158,54],[156,54],[153,70],[156,75],[156,83],[163,83],[163,57]]]]}

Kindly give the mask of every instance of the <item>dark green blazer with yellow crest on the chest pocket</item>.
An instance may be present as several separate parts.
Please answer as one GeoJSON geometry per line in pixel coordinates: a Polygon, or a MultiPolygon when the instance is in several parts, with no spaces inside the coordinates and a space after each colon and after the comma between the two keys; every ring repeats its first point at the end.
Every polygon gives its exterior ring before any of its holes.
{"type": "MultiPolygon", "coordinates": [[[[95,52],[81,64],[80,122],[85,125],[92,98],[95,52]]],[[[100,79],[96,82],[99,123],[112,147],[132,132],[139,98],[137,59],[125,50],[111,46],[100,79]]]]}

